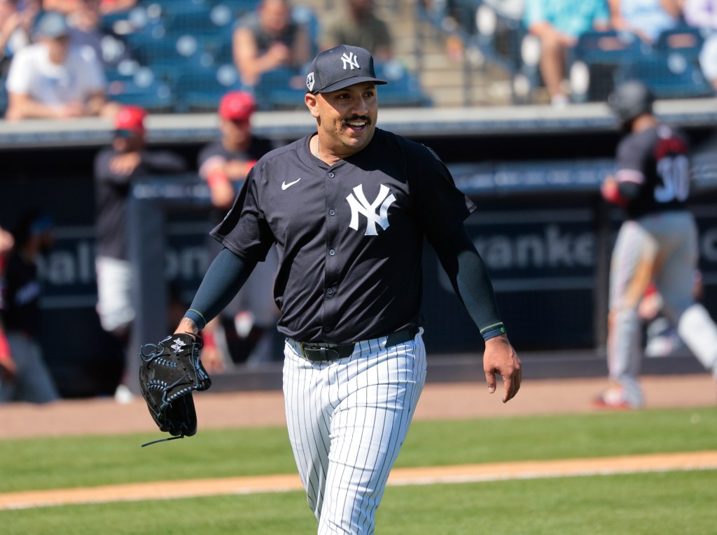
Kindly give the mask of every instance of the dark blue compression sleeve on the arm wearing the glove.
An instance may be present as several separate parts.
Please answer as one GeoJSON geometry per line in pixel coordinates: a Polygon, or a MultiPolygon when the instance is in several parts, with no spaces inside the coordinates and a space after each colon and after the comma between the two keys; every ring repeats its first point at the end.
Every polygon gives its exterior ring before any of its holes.
{"type": "Polygon", "coordinates": [[[206,270],[189,310],[184,314],[201,329],[234,299],[257,262],[244,260],[226,247],[206,270]]]}

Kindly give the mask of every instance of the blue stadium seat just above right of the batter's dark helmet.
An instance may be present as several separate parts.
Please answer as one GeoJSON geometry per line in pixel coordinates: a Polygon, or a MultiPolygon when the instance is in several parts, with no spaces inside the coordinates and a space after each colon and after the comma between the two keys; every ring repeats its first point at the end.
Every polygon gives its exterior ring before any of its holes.
{"type": "Polygon", "coordinates": [[[713,97],[715,91],[699,67],[678,52],[654,52],[639,62],[623,65],[615,74],[615,83],[641,80],[655,98],[713,97]]]}

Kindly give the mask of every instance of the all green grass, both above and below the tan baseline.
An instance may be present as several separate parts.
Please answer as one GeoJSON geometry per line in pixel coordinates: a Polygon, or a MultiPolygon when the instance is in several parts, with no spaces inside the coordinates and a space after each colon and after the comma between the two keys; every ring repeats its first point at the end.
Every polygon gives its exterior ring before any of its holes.
{"type": "MultiPolygon", "coordinates": [[[[414,422],[401,467],[717,450],[717,408],[414,422]]],[[[0,492],[295,473],[284,427],[0,440],[0,492]]],[[[386,489],[390,535],[713,535],[717,470],[386,489]]],[[[3,535],[315,534],[302,492],[0,511],[3,535]]]]}

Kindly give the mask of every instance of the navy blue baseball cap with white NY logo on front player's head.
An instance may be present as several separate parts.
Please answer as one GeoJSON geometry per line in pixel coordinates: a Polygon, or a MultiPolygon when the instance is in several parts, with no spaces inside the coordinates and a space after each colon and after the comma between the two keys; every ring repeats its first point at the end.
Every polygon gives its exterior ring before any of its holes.
{"type": "Polygon", "coordinates": [[[362,82],[385,84],[386,80],[376,78],[371,52],[339,44],[313,59],[306,75],[306,90],[315,95],[362,82]]]}

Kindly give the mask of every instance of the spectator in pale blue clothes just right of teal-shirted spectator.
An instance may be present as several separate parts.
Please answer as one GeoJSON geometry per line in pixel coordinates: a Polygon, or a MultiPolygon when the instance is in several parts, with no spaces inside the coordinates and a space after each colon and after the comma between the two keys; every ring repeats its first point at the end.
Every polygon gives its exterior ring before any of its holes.
{"type": "Polygon", "coordinates": [[[655,42],[660,33],[677,26],[683,0],[608,0],[610,24],[629,30],[645,42],[655,42]]]}

